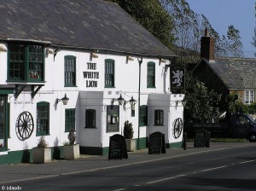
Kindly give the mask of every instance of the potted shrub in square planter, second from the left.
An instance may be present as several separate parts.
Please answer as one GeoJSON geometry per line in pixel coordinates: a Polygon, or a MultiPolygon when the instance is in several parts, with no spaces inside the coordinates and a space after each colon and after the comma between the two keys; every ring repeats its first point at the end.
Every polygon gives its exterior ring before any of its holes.
{"type": "Polygon", "coordinates": [[[67,139],[69,142],[64,143],[64,159],[79,159],[79,144],[75,144],[76,134],[74,129],[69,131],[67,139]]]}

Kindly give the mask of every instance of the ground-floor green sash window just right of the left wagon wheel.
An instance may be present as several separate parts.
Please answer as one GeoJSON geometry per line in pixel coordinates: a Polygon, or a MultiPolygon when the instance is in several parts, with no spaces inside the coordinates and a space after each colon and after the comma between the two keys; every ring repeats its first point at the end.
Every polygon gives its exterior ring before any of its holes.
{"type": "Polygon", "coordinates": [[[37,136],[49,135],[49,102],[37,103],[37,136]]]}

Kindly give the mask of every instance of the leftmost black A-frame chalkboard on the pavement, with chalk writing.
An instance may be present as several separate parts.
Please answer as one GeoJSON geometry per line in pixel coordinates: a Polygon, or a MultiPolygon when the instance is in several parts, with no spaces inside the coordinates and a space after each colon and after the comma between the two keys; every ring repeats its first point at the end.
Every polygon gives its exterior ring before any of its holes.
{"type": "Polygon", "coordinates": [[[125,136],[115,134],[109,137],[108,159],[128,159],[125,136]]]}

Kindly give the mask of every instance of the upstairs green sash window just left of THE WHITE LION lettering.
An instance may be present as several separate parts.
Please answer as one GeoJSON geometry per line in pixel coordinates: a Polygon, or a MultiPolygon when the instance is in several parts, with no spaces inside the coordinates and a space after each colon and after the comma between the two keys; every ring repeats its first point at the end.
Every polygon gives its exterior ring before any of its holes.
{"type": "Polygon", "coordinates": [[[64,78],[65,86],[76,86],[76,57],[73,55],[64,57],[64,78]]]}

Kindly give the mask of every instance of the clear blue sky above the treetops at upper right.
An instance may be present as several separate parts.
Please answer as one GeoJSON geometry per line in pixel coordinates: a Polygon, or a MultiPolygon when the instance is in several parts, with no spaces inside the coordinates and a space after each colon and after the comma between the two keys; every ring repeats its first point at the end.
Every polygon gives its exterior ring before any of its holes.
{"type": "Polygon", "coordinates": [[[256,0],[186,0],[190,9],[204,14],[220,36],[226,35],[228,26],[240,31],[246,57],[252,57],[256,49],[252,45],[255,27],[256,0]]]}

